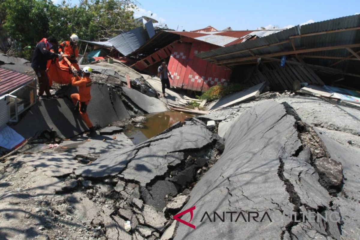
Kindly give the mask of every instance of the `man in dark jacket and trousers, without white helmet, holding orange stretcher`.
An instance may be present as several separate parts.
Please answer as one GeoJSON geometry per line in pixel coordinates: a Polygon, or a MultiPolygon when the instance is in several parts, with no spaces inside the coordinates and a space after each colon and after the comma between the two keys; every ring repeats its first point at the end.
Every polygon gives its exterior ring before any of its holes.
{"type": "Polygon", "coordinates": [[[42,97],[45,92],[46,98],[53,98],[53,96],[50,94],[49,79],[48,75],[46,74],[46,64],[48,60],[53,58],[58,58],[61,60],[62,57],[59,54],[50,51],[53,46],[54,49],[57,49],[57,45],[58,41],[56,38],[54,36],[50,36],[47,39],[42,39],[35,47],[35,52],[32,56],[31,67],[34,69],[39,81],[39,97],[42,97]]]}

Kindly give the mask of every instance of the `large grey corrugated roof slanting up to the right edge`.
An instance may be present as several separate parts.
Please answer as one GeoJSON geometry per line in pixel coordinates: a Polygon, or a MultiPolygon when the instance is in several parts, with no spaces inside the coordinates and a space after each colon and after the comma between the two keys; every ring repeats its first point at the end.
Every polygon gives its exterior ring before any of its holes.
{"type": "MultiPolygon", "coordinates": [[[[351,15],[303,26],[298,25],[269,36],[262,34],[263,37],[252,41],[238,42],[238,44],[225,48],[199,53],[197,56],[208,61],[212,61],[211,58],[215,61],[215,64],[235,65],[248,63],[249,61],[256,63],[256,56],[274,57],[281,56],[282,53],[288,55],[296,49],[300,51],[296,52],[298,56],[304,56],[309,63],[328,66],[338,61],[335,58],[351,56],[346,47],[351,45],[354,48],[353,51],[359,50],[356,49],[360,47],[358,45],[360,40],[359,22],[360,15],[351,15]],[[333,46],[332,50],[320,49],[321,47],[330,46],[333,46]],[[301,53],[302,49],[306,49],[306,51],[301,53]],[[312,49],[314,50],[310,51],[312,49]],[[312,58],[312,56],[315,56],[315,58],[312,58]],[[327,56],[333,59],[321,59],[319,56],[327,56]]],[[[346,61],[337,64],[336,67],[355,69],[352,63],[346,63],[346,61]]]]}

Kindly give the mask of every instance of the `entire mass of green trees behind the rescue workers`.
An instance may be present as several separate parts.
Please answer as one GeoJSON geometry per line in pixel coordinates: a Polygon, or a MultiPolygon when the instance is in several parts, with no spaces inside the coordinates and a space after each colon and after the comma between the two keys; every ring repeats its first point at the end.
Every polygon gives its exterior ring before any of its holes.
{"type": "Polygon", "coordinates": [[[73,6],[66,1],[54,5],[51,0],[0,0],[0,4],[0,21],[5,18],[3,27],[20,48],[50,35],[59,41],[72,33],[95,40],[141,26],[134,20],[132,0],[81,0],[73,6]]]}

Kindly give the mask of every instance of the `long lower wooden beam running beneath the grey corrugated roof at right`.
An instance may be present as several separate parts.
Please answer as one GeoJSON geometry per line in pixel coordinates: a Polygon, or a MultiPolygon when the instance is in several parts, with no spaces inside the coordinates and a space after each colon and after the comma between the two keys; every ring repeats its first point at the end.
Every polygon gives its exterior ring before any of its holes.
{"type": "MultiPolygon", "coordinates": [[[[297,53],[312,53],[312,52],[319,52],[319,51],[343,49],[343,48],[347,48],[347,47],[360,47],[360,44],[349,44],[349,45],[329,46],[329,47],[316,47],[316,48],[301,49],[301,50],[296,50],[296,51],[285,51],[285,52],[279,52],[279,53],[265,54],[264,56],[273,57],[273,56],[291,55],[291,54],[297,54],[297,53]]],[[[228,59],[228,60],[220,60],[220,61],[216,61],[215,64],[242,62],[242,61],[247,61],[247,60],[253,60],[256,58],[257,58],[257,56],[251,56],[251,57],[246,57],[246,58],[234,58],[234,59],[228,59]]]]}

